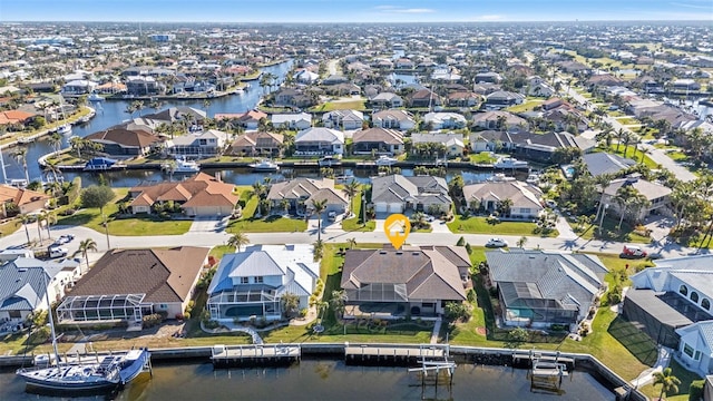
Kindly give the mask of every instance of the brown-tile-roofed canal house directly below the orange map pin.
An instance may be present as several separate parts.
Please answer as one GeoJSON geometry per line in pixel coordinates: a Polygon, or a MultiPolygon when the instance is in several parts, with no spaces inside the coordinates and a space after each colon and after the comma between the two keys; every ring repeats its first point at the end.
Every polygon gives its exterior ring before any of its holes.
{"type": "Polygon", "coordinates": [[[466,300],[470,260],[459,246],[349,250],[341,287],[344,319],[436,319],[446,302],[466,300]]]}

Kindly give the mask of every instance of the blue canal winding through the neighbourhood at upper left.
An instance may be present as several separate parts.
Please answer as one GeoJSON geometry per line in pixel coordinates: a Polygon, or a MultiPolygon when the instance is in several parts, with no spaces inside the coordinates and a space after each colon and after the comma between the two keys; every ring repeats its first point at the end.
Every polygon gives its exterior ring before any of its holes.
{"type": "MultiPolygon", "coordinates": [[[[284,80],[285,75],[290,71],[292,61],[285,61],[275,66],[263,68],[263,72],[271,72],[277,77],[277,81],[284,80]]],[[[251,87],[243,95],[231,95],[221,98],[213,98],[208,106],[208,116],[213,117],[216,113],[245,113],[255,108],[261,97],[264,95],[264,89],[260,86],[260,81],[254,80],[250,82],[251,87]]],[[[62,140],[62,147],[69,146],[69,138],[71,136],[86,137],[89,134],[106,129],[114,125],[130,118],[126,113],[127,106],[131,104],[131,99],[128,100],[105,100],[100,102],[94,102],[91,106],[97,109],[97,115],[87,124],[76,125],[72,127],[70,135],[65,135],[62,140]]],[[[147,105],[148,106],[148,105],[147,105]]],[[[176,100],[164,101],[162,109],[174,106],[189,106],[201,110],[205,109],[203,100],[176,100]]],[[[141,115],[153,114],[159,110],[152,108],[145,108],[141,110],[141,115]]],[[[138,113],[134,113],[134,117],[138,117],[138,113]]],[[[37,164],[37,159],[42,155],[52,151],[52,147],[48,144],[47,138],[40,139],[36,143],[28,145],[27,151],[27,167],[31,180],[40,180],[42,173],[37,164]]],[[[7,179],[25,178],[25,170],[22,166],[16,162],[12,157],[12,149],[4,148],[2,157],[6,164],[7,179]]],[[[66,175],[68,178],[71,176],[66,175]]],[[[0,182],[4,183],[6,177],[2,176],[2,169],[0,168],[0,182]]]]}

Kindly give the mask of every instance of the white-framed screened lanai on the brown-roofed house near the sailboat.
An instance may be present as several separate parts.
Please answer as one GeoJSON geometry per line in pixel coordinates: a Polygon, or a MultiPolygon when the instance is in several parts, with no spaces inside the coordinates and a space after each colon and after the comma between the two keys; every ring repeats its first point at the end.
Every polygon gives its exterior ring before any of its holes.
{"type": "Polygon", "coordinates": [[[68,296],[57,307],[59,322],[140,321],[146,294],[68,296]]]}

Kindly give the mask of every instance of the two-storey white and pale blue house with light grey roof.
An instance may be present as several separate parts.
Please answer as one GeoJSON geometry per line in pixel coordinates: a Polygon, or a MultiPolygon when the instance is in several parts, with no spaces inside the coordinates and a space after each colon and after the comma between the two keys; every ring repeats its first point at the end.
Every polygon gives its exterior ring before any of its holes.
{"type": "Polygon", "coordinates": [[[252,245],[223,255],[208,286],[211,319],[227,323],[280,320],[285,294],[297,296],[297,311],[309,307],[320,277],[313,252],[307,244],[252,245]]]}

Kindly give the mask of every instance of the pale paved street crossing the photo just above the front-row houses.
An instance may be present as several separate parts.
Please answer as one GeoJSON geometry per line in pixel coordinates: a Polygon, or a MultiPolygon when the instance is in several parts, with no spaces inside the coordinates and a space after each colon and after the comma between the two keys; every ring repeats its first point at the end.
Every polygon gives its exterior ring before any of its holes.
{"type": "MultiPolygon", "coordinates": [[[[37,238],[37,228],[33,224],[29,227],[30,238],[37,238]]],[[[104,234],[81,226],[55,226],[51,228],[52,238],[62,234],[74,234],[76,239],[67,245],[70,254],[76,252],[79,242],[85,238],[92,238],[97,243],[97,253],[91,253],[90,260],[96,260],[107,251],[106,237],[104,234]]],[[[47,232],[45,231],[45,235],[47,232]]],[[[463,238],[473,246],[484,246],[494,234],[453,234],[453,233],[414,233],[409,235],[407,241],[411,245],[456,245],[458,238],[463,238]]],[[[515,245],[520,236],[498,235],[510,245],[515,245]]],[[[247,233],[252,244],[311,244],[316,241],[316,231],[310,229],[304,233],[247,233]]],[[[215,246],[227,243],[229,234],[225,232],[188,232],[183,235],[154,235],[154,236],[110,236],[111,247],[166,247],[166,246],[215,246]]],[[[342,229],[330,228],[322,233],[322,239],[328,243],[345,243],[348,238],[356,239],[356,243],[388,243],[383,232],[359,233],[344,232],[342,229]]],[[[21,246],[27,242],[25,229],[3,237],[0,247],[21,246]]],[[[631,244],[638,245],[642,244],[631,244]]],[[[543,238],[529,236],[526,248],[543,248],[557,251],[583,251],[618,254],[622,251],[622,243],[587,241],[583,238],[543,238]]],[[[672,243],[653,243],[643,248],[649,253],[661,253],[664,257],[675,257],[693,254],[695,250],[684,248],[672,243]]],[[[704,251],[706,252],[706,251],[704,251]]]]}

